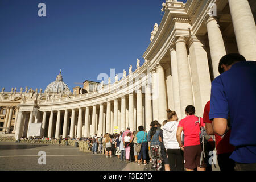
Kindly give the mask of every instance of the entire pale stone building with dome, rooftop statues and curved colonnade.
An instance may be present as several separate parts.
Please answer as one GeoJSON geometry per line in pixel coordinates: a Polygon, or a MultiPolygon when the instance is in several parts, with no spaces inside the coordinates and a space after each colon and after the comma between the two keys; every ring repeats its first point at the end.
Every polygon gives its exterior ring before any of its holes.
{"type": "Polygon", "coordinates": [[[90,137],[126,127],[134,131],[140,125],[149,131],[151,121],[167,119],[168,108],[184,118],[187,105],[194,105],[196,115],[203,117],[221,57],[241,53],[246,60],[256,60],[255,4],[254,0],[167,0],[143,64],[137,60],[137,67],[130,67],[127,76],[124,70],[113,84],[94,82],[89,92],[77,88],[76,94],[71,93],[61,73],[44,93],[2,90],[0,117],[7,115],[3,130],[19,138],[27,135],[29,123],[41,122],[44,137],[90,137]],[[7,97],[11,98],[5,101],[7,97]]]}

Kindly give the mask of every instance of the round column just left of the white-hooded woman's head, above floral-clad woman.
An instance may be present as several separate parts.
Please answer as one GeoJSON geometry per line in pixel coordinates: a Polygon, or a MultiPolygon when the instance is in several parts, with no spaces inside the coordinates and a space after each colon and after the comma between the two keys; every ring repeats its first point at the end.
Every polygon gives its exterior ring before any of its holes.
{"type": "Polygon", "coordinates": [[[156,65],[156,73],[158,74],[158,88],[159,88],[159,96],[158,96],[158,119],[159,123],[162,123],[167,119],[167,102],[166,102],[166,84],[164,79],[164,69],[162,65],[156,65]]]}

